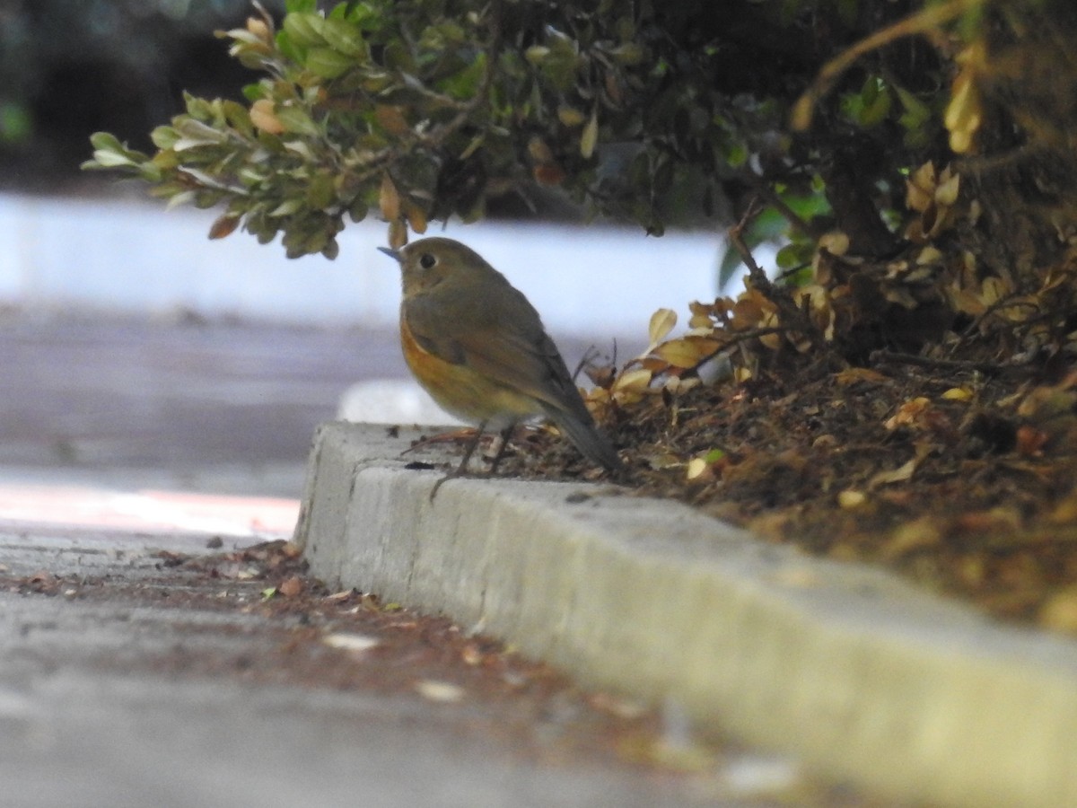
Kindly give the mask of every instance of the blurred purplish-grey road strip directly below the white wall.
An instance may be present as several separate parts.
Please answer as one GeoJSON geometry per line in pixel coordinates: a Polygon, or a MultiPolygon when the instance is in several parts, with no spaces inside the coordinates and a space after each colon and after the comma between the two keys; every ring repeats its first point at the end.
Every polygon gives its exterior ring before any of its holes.
{"type": "Polygon", "coordinates": [[[15,314],[0,321],[0,465],[303,463],[348,385],[404,375],[386,330],[15,314]]]}

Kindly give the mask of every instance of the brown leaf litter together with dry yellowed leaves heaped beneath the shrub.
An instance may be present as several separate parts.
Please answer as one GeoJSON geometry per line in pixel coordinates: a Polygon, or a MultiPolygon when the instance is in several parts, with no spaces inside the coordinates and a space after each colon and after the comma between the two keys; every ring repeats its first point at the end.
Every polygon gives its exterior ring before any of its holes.
{"type": "MultiPolygon", "coordinates": [[[[796,285],[745,250],[683,334],[660,309],[640,357],[585,358],[587,403],[640,494],[1077,633],[1077,239],[1034,288],[991,275],[946,240],[975,225],[959,184],[913,173],[886,260],[824,234],[796,285]]],[[[548,429],[516,443],[506,472],[601,478],[548,429]]]]}

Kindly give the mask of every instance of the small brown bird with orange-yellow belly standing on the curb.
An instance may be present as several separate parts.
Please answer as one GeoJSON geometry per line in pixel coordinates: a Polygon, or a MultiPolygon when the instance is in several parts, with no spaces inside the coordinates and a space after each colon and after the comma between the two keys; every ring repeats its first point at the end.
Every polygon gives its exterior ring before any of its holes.
{"type": "MultiPolygon", "coordinates": [[[[463,473],[485,429],[507,437],[518,421],[534,416],[554,421],[589,460],[607,471],[620,468],[538,312],[501,273],[449,238],[378,249],[401,265],[401,345],[408,367],[442,407],[478,427],[451,476],[463,473]]],[[[499,451],[491,473],[500,458],[499,451]]]]}

